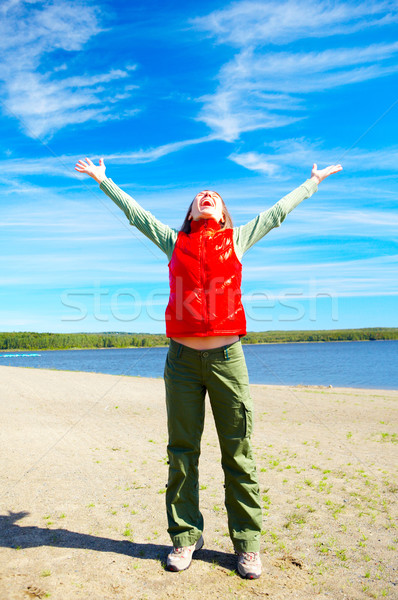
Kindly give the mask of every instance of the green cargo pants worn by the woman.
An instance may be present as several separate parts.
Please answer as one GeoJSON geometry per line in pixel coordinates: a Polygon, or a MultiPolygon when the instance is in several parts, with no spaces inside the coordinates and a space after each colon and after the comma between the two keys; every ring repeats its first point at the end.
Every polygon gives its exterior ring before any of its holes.
{"type": "Polygon", "coordinates": [[[221,448],[231,540],[237,552],[258,552],[260,492],[250,441],[252,399],[241,342],[200,351],[170,340],[164,379],[169,433],[166,507],[173,545],[190,546],[203,531],[198,465],[207,390],[221,448]]]}

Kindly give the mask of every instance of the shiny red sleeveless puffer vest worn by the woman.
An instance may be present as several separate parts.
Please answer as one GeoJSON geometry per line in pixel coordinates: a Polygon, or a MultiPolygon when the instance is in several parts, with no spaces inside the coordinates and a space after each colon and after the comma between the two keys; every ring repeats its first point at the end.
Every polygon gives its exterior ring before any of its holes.
{"type": "Polygon", "coordinates": [[[191,221],[191,232],[178,234],[169,278],[167,337],[246,334],[233,229],[220,230],[214,219],[191,221]]]}

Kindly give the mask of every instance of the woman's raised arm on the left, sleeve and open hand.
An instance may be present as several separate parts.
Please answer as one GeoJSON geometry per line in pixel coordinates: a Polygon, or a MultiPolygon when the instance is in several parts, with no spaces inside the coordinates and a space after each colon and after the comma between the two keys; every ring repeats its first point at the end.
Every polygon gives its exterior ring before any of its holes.
{"type": "Polygon", "coordinates": [[[75,170],[79,173],[85,173],[95,179],[100,184],[101,190],[122,209],[130,224],[137,227],[156,244],[170,260],[178,231],[156,219],[149,211],[144,210],[134,198],[121,190],[112,179],[106,177],[105,169],[102,158],[100,158],[99,165],[95,165],[89,158],[86,158],[85,161],[79,160],[75,166],[75,170]]]}

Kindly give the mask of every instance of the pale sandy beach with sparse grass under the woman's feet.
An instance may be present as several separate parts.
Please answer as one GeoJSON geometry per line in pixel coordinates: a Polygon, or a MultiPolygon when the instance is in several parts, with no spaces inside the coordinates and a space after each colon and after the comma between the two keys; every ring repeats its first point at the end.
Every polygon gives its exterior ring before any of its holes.
{"type": "Polygon", "coordinates": [[[263,575],[242,580],[207,402],[204,549],[165,571],[162,379],[0,367],[0,599],[398,598],[398,390],[252,385],[263,575]]]}

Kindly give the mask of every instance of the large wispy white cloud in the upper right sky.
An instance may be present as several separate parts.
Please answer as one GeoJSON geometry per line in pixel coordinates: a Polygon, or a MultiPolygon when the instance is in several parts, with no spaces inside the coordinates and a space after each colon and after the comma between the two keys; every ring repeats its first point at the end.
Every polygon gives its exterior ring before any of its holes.
{"type": "Polygon", "coordinates": [[[243,132],[290,125],[306,117],[307,96],[374,80],[398,71],[398,43],[322,48],[275,49],[297,39],[352,34],[398,21],[396,2],[344,3],[326,0],[283,3],[237,2],[193,20],[192,25],[238,47],[224,64],[213,94],[200,98],[199,120],[222,139],[243,132]],[[273,44],[272,49],[270,45],[273,44]]]}

